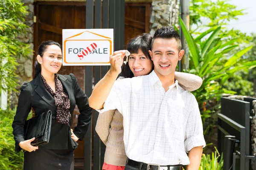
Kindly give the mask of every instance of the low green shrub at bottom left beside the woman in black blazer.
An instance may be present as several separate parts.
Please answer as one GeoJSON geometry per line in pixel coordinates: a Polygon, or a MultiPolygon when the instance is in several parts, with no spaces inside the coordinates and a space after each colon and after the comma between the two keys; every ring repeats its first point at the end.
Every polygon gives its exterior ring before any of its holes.
{"type": "MultiPolygon", "coordinates": [[[[22,170],[23,152],[15,152],[12,122],[15,110],[0,109],[0,170],[22,170]]],[[[31,114],[28,116],[31,117],[31,114]]]]}

